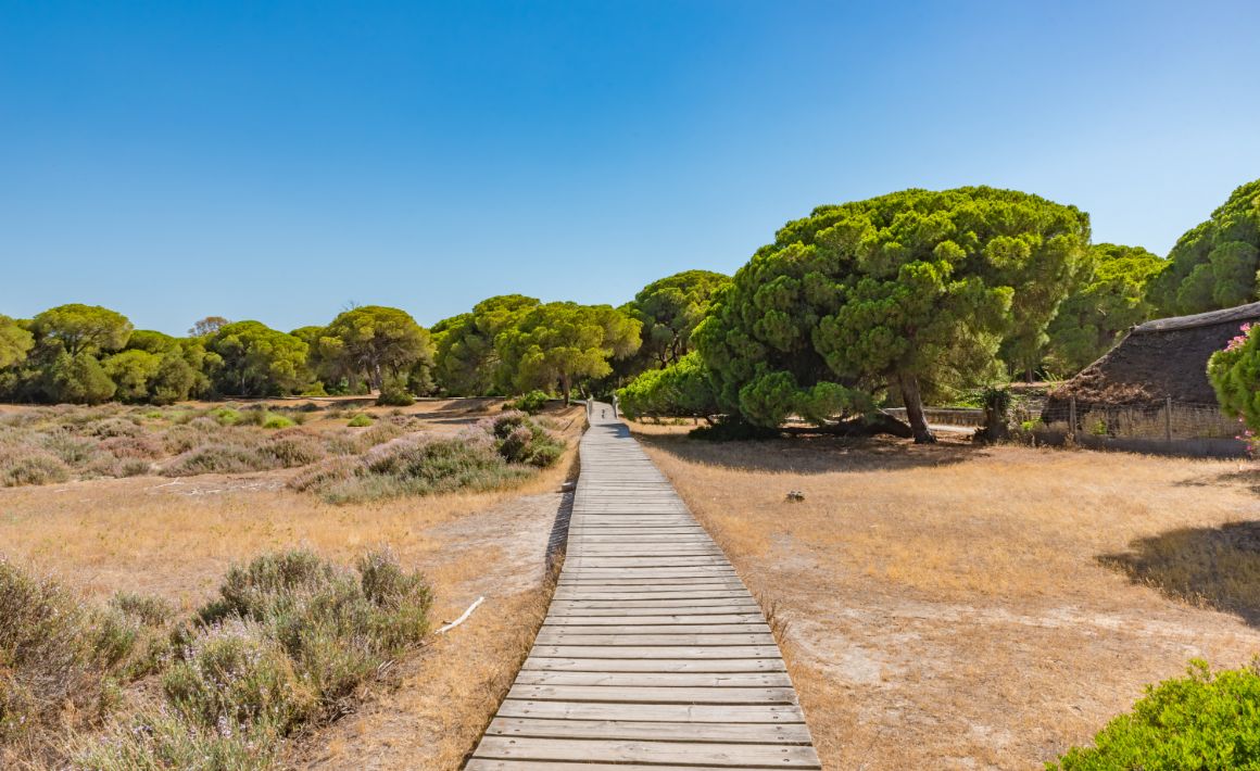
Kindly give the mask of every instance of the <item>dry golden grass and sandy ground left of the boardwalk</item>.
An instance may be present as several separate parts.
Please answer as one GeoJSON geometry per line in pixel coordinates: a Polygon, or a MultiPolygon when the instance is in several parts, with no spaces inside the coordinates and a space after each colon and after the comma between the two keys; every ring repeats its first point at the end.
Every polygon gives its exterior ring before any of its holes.
{"type": "MultiPolygon", "coordinates": [[[[469,414],[460,403],[420,414],[446,431],[478,413],[493,411],[469,414]]],[[[581,407],[548,412],[544,420],[571,441],[566,456],[520,486],[489,493],[338,506],[285,489],[292,471],[3,489],[0,553],[88,596],[152,593],[186,612],[214,593],[231,564],[257,554],[306,545],[350,562],[388,544],[431,582],[435,627],[479,596],[485,603],[399,663],[359,714],[300,742],[292,762],[455,768],[542,622],[547,540],[563,499],[557,490],[575,470],[582,414],[581,407]]]]}

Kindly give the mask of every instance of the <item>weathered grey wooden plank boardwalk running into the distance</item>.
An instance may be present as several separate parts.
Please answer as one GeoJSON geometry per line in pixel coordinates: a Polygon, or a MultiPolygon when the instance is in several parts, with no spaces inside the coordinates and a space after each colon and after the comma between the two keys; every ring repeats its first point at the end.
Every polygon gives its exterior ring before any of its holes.
{"type": "Polygon", "coordinates": [[[820,768],[761,608],[611,414],[582,437],[547,620],[465,768],[820,768]]]}

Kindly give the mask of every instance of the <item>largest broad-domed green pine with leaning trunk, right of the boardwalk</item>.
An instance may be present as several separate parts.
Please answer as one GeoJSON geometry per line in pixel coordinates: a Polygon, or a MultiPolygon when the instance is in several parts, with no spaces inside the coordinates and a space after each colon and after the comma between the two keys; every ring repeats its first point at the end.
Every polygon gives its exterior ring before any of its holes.
{"type": "Polygon", "coordinates": [[[1004,339],[1043,334],[1087,243],[1086,214],[1014,190],[819,207],[736,272],[693,340],[723,409],[753,425],[824,423],[892,389],[930,442],[924,394],[993,378],[1004,339]]]}

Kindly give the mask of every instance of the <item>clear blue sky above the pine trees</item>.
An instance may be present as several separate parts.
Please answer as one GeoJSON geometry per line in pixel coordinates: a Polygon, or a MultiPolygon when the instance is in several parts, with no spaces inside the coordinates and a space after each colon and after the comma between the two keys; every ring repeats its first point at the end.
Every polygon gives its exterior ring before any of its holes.
{"type": "Polygon", "coordinates": [[[1166,253],[1260,176],[1260,3],[0,0],[0,314],[620,304],[822,203],[1166,253]]]}

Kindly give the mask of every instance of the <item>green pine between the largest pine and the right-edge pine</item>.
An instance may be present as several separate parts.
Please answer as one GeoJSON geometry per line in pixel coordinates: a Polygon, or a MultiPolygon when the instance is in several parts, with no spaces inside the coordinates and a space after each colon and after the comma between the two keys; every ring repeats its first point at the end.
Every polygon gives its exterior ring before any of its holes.
{"type": "Polygon", "coordinates": [[[1075,374],[1110,350],[1130,326],[1150,319],[1155,310],[1147,301],[1147,285],[1166,267],[1164,260],[1142,247],[1090,247],[1080,286],[1046,330],[1046,367],[1075,374]]]}

